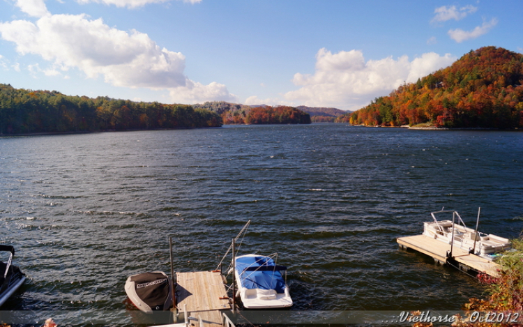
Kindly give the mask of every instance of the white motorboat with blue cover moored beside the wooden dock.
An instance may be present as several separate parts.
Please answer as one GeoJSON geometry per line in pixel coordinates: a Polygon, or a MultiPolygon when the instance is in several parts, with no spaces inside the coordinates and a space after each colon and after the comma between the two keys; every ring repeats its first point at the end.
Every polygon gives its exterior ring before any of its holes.
{"type": "Polygon", "coordinates": [[[272,257],[246,254],[234,259],[238,294],[246,309],[291,307],[289,287],[272,257]]]}

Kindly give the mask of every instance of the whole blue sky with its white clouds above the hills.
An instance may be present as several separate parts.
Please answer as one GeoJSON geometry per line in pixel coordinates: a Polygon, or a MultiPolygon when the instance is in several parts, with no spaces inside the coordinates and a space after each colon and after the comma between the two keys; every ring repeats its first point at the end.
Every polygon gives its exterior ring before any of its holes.
{"type": "Polygon", "coordinates": [[[522,53],[522,17],[522,0],[0,0],[0,83],[357,110],[471,50],[522,53]]]}

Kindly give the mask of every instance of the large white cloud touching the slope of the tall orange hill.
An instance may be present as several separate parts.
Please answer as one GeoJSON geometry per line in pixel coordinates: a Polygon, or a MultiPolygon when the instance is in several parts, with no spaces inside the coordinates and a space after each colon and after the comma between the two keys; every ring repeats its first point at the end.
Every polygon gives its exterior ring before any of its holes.
{"type": "Polygon", "coordinates": [[[298,105],[355,110],[367,105],[372,98],[388,95],[404,82],[416,82],[450,65],[456,58],[430,52],[413,61],[407,56],[397,60],[389,56],[365,62],[361,51],[332,54],[321,49],[316,60],[314,75],[294,75],[294,84],[301,88],[285,93],[285,99],[298,105]]]}

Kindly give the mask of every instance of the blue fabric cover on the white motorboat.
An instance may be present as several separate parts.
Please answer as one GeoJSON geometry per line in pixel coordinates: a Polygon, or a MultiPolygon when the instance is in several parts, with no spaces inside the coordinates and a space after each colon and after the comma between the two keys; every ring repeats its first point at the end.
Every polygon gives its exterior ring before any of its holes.
{"type": "Polygon", "coordinates": [[[270,257],[236,258],[236,271],[246,289],[274,289],[276,293],[284,293],[285,280],[280,271],[285,269],[277,266],[270,257]]]}

